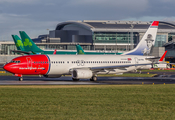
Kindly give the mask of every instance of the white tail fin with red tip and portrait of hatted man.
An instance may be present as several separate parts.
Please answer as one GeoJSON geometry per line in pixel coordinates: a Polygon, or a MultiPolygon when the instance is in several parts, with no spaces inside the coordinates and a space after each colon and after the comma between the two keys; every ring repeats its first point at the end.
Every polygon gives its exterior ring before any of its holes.
{"type": "Polygon", "coordinates": [[[155,44],[158,25],[159,21],[153,21],[136,48],[123,55],[149,55],[155,44]]]}

